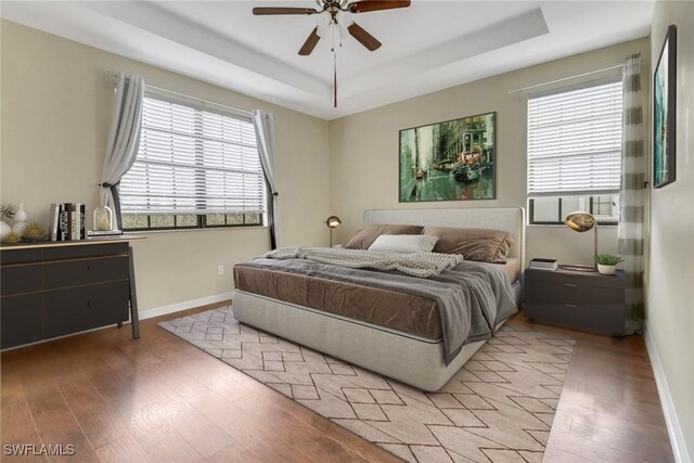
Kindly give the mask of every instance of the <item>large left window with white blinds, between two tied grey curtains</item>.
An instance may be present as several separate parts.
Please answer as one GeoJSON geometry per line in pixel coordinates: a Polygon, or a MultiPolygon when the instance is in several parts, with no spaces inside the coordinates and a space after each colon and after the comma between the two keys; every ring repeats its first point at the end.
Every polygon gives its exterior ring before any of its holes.
{"type": "Polygon", "coordinates": [[[262,224],[253,123],[226,106],[147,90],[137,159],[119,191],[126,230],[262,224]]]}

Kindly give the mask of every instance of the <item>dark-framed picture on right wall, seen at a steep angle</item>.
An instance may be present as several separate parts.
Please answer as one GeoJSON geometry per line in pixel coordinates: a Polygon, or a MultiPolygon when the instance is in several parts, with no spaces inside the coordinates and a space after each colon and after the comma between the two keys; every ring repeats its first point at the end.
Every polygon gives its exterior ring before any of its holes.
{"type": "Polygon", "coordinates": [[[674,181],[677,28],[668,27],[653,75],[653,187],[674,181]]]}

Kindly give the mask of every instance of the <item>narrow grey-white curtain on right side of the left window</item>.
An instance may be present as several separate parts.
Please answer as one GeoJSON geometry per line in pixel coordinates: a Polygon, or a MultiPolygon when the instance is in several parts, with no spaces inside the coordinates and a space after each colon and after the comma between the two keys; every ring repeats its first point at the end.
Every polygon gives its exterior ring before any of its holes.
{"type": "Polygon", "coordinates": [[[270,227],[270,246],[278,247],[280,236],[278,233],[278,196],[274,176],[274,116],[262,111],[253,112],[253,125],[256,129],[258,154],[265,173],[265,181],[270,192],[268,202],[268,226],[270,227]]]}

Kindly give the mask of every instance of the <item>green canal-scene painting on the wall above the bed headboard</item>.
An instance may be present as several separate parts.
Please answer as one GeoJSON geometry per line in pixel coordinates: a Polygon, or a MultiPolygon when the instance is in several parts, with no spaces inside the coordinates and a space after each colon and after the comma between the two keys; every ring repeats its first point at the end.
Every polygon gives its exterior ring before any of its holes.
{"type": "Polygon", "coordinates": [[[497,113],[400,130],[400,203],[493,200],[497,113]]]}

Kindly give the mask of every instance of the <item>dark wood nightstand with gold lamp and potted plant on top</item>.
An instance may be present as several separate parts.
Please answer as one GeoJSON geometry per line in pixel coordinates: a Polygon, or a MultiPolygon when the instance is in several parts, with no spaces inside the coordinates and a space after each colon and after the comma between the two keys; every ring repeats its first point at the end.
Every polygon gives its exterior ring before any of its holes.
{"type": "Polygon", "coordinates": [[[524,310],[550,324],[613,336],[626,331],[625,273],[526,269],[524,310]]]}

